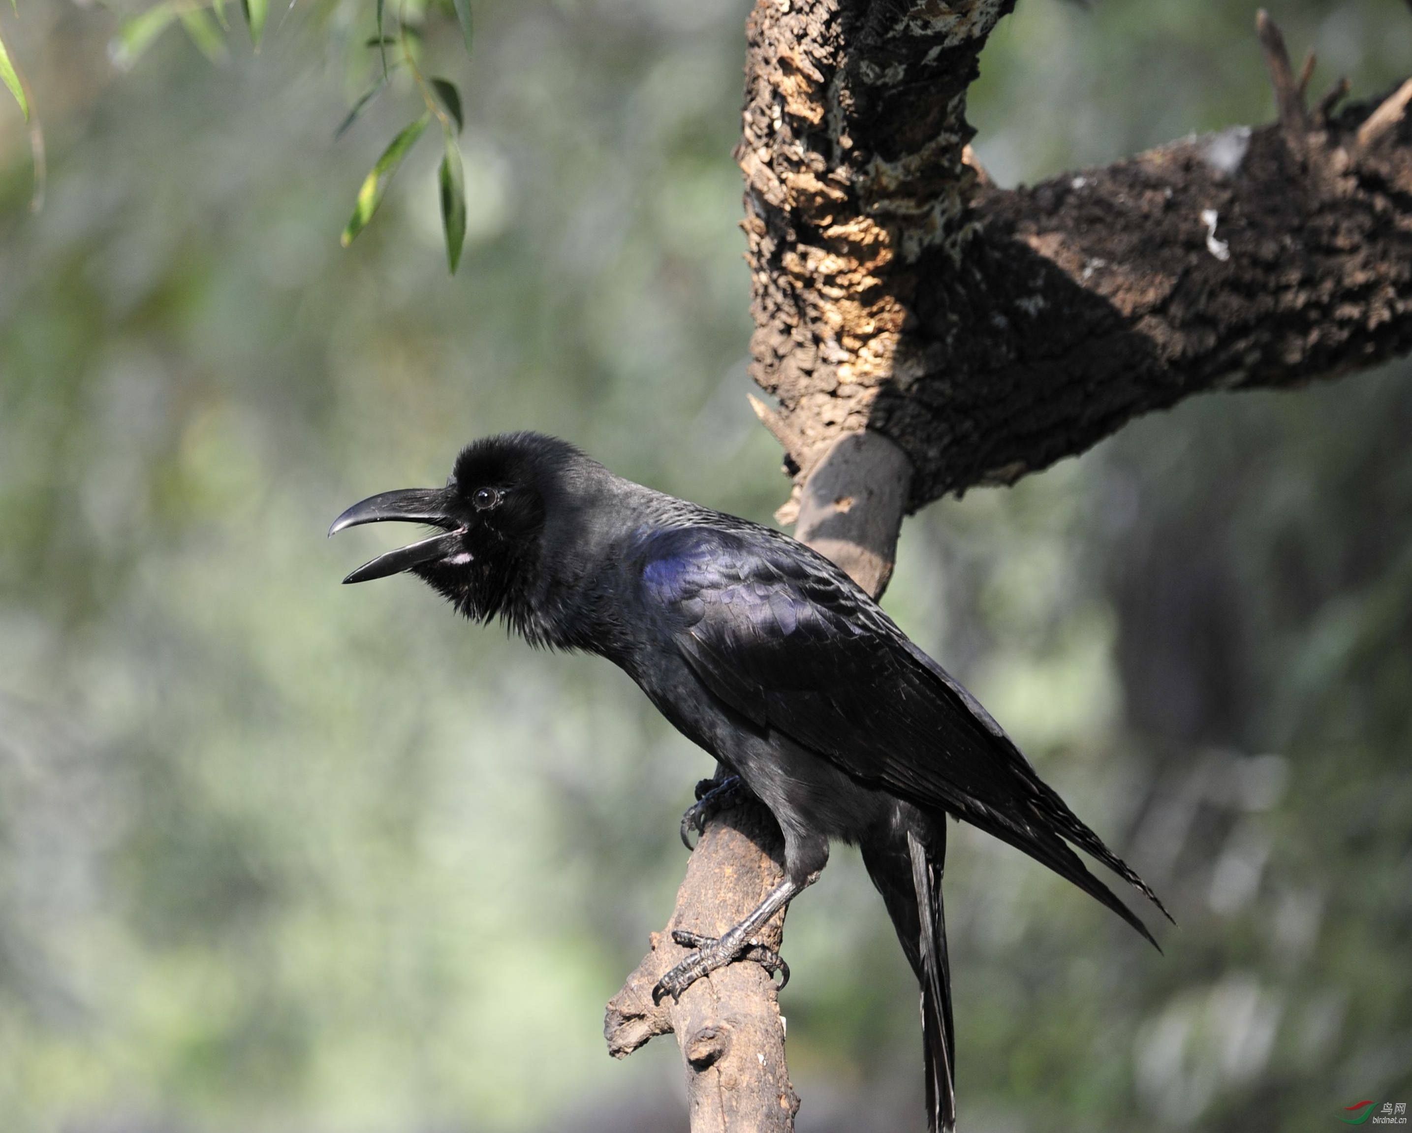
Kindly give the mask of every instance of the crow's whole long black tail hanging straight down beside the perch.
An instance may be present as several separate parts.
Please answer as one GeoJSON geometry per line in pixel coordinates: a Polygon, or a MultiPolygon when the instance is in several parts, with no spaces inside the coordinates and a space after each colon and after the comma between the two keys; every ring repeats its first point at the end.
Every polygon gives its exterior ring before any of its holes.
{"type": "Polygon", "coordinates": [[[922,989],[928,1133],[955,1133],[956,1129],[956,1030],[952,1024],[946,918],[942,914],[945,860],[945,819],[928,831],[925,845],[909,831],[905,845],[863,846],[863,863],[882,894],[898,941],[922,989]]]}

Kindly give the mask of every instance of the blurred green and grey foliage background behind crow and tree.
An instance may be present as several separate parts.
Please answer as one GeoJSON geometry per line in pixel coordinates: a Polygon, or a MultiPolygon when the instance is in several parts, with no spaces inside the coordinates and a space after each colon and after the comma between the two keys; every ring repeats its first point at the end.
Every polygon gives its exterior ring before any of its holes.
{"type": "MultiPolygon", "coordinates": [[[[213,66],[114,14],[0,24],[0,1129],[685,1129],[603,1004],[661,927],[710,761],[616,670],[345,589],[496,429],[768,521],[746,404],[740,0],[476,0],[469,244],[371,4],[275,4],[213,66]]],[[[1412,71],[1399,0],[1281,0],[1315,92],[1412,71]]],[[[1254,7],[1024,0],[983,57],[1003,184],[1271,117],[1254,7]]],[[[947,876],[970,1133],[1330,1130],[1412,1103],[1408,367],[1141,421],[911,520],[887,605],[1182,924],[1147,948],[969,829],[947,876]]],[[[856,855],[791,913],[802,1133],[921,1129],[916,992],[856,855]]]]}

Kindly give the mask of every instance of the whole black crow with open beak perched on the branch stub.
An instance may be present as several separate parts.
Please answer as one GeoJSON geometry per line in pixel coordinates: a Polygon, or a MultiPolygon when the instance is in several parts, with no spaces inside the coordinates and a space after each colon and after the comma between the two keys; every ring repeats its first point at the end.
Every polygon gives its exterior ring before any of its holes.
{"type": "MultiPolygon", "coordinates": [[[[928,1126],[952,1130],[947,815],[1049,866],[1156,944],[1067,843],[1166,914],[1142,879],[970,692],[803,544],[624,480],[532,432],[477,441],[445,489],[373,496],[329,534],[387,520],[441,533],[345,582],[411,571],[472,620],[498,615],[531,644],[606,657],[778,821],[785,880],[720,939],[683,934],[696,951],[662,978],[658,997],[741,955],[761,958],[751,937],[818,879],[832,839],[854,843],[921,982],[928,1126]]],[[[688,811],[683,831],[698,817],[688,811]]]]}

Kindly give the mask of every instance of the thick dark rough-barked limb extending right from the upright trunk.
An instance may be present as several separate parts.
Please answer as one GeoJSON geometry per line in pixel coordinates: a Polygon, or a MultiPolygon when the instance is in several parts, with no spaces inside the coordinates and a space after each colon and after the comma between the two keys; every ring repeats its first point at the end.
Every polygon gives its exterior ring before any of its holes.
{"type": "Polygon", "coordinates": [[[870,424],[912,506],[1010,483],[1206,390],[1292,387],[1412,349],[1412,146],[1401,92],[1289,144],[1236,127],[977,195],[969,278],[916,299],[928,372],[870,424]],[[1360,133],[1380,113],[1392,124],[1360,133]]]}

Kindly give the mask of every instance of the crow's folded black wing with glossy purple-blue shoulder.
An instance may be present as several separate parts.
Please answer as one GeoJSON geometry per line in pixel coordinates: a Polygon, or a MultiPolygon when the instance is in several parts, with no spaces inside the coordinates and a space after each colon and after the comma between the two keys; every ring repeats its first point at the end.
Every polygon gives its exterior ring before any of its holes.
{"type": "Polygon", "coordinates": [[[832,562],[744,524],[659,531],[638,554],[647,598],[678,650],[737,712],[863,783],[1003,838],[1148,935],[1060,839],[1161,908],[1155,894],[1039,778],[976,698],[832,562]]]}

